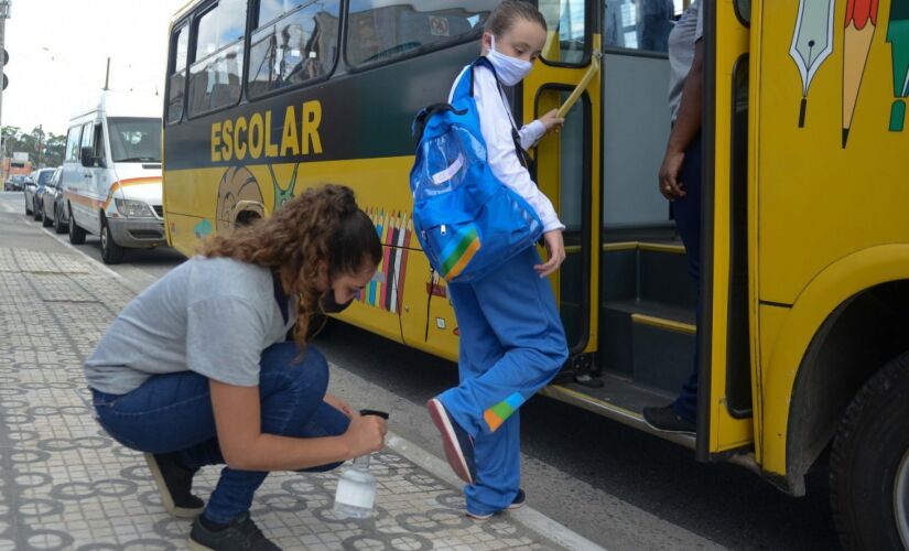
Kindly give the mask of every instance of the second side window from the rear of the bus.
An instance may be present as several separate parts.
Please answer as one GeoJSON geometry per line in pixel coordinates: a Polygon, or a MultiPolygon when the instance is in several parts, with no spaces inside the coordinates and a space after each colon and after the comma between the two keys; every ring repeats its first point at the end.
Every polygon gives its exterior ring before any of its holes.
{"type": "Polygon", "coordinates": [[[190,116],[236,105],[244,69],[246,0],[221,0],[196,23],[190,68],[190,116]]]}

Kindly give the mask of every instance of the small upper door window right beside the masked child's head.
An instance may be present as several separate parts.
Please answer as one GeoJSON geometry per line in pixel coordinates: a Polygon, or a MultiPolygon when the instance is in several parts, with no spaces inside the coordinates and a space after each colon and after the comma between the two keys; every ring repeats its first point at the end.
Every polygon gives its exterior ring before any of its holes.
{"type": "Polygon", "coordinates": [[[545,0],[540,2],[540,12],[547,20],[549,36],[543,47],[543,57],[550,62],[577,65],[584,61],[586,46],[585,2],[571,0],[545,0]],[[558,51],[556,43],[558,40],[558,51]]]}

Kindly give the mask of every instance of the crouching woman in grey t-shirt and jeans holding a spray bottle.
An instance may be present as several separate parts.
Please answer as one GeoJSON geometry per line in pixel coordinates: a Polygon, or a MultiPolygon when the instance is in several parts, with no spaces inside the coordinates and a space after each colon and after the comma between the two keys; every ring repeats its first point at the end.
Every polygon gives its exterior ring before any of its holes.
{"type": "Polygon", "coordinates": [[[383,445],[386,421],[327,395],[328,366],[305,343],[314,314],[372,279],[381,245],[354,192],[327,185],[201,253],[127,304],[86,360],[96,418],[145,452],[171,514],[201,514],[191,549],[279,549],[249,516],[269,472],[328,471],[383,445]],[[203,510],[193,476],[223,464],[203,510]]]}

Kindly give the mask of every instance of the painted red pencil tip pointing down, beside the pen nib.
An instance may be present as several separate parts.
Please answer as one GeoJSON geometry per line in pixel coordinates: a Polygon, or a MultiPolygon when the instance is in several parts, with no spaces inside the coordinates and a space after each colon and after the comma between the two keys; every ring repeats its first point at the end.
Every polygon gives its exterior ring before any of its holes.
{"type": "Polygon", "coordinates": [[[855,106],[877,28],[878,0],[847,0],[843,37],[843,149],[850,139],[855,106]]]}

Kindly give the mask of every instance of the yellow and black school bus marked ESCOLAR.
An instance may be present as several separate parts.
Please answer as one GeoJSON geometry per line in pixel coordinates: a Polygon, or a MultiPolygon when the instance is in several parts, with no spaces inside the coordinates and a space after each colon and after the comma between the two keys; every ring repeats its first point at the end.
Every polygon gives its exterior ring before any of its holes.
{"type": "MultiPolygon", "coordinates": [[[[455,359],[413,236],[411,121],[478,53],[496,0],[204,0],[170,26],[167,238],[186,255],[347,184],[385,247],[345,322],[455,359]]],[[[701,349],[699,461],[781,490],[829,464],[845,547],[909,547],[909,0],[706,0],[701,289],[657,171],[681,0],[539,0],[524,121],[593,76],[533,151],[566,225],[571,359],[544,393],[649,430],[701,349]],[[700,292],[702,318],[694,324],[700,292]]]]}

